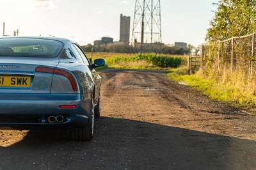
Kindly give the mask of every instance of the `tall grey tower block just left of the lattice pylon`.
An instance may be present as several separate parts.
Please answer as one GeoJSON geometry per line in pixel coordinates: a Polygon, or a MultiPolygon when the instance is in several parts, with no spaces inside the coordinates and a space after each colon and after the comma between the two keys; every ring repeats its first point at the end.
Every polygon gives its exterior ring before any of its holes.
{"type": "Polygon", "coordinates": [[[130,42],[130,20],[131,17],[120,15],[120,42],[130,42]]]}

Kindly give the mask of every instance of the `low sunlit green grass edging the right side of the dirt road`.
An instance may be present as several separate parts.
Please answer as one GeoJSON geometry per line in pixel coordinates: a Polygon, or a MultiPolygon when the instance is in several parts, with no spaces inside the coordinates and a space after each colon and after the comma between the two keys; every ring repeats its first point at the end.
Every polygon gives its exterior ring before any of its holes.
{"type": "MultiPolygon", "coordinates": [[[[170,79],[186,84],[204,95],[219,102],[236,107],[255,107],[256,97],[246,87],[236,86],[232,81],[216,81],[214,78],[205,78],[200,72],[194,75],[186,74],[186,68],[172,69],[166,72],[170,79]]],[[[236,75],[237,76],[237,75],[236,75]]]]}

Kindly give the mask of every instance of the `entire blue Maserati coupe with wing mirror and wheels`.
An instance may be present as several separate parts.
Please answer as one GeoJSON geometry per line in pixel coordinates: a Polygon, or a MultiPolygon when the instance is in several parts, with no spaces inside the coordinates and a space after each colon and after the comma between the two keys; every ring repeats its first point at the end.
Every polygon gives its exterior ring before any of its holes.
{"type": "Polygon", "coordinates": [[[101,77],[81,47],[65,38],[0,38],[0,127],[67,129],[93,138],[101,77]]]}

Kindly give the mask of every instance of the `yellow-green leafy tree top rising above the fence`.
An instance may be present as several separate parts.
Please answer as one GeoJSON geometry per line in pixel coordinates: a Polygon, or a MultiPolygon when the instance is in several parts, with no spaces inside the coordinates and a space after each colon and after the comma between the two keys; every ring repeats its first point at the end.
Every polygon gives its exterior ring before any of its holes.
{"type": "Polygon", "coordinates": [[[207,30],[208,41],[226,40],[253,33],[256,28],[255,0],[220,0],[207,30]]]}

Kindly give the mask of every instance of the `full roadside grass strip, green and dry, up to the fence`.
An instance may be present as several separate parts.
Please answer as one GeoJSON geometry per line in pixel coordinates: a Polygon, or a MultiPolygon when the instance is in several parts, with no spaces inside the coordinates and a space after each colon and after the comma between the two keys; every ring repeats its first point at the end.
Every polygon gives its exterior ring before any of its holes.
{"type": "Polygon", "coordinates": [[[254,81],[241,72],[230,73],[230,70],[205,75],[199,70],[193,75],[180,72],[180,68],[172,69],[168,75],[177,82],[188,84],[204,91],[213,100],[241,107],[256,107],[254,81]]]}

